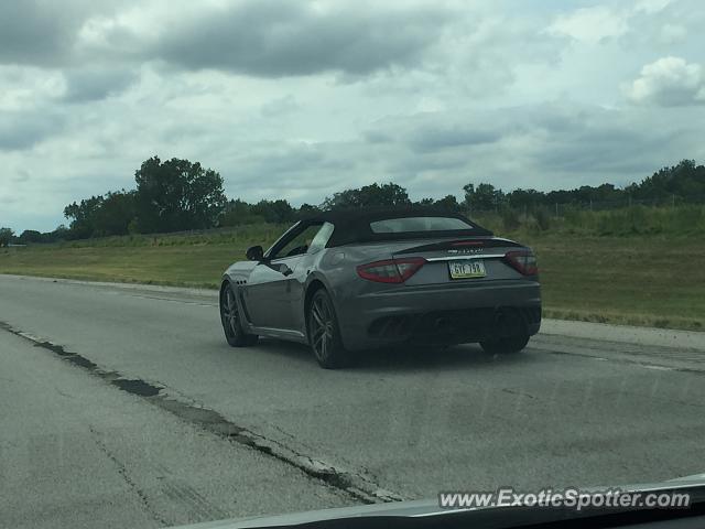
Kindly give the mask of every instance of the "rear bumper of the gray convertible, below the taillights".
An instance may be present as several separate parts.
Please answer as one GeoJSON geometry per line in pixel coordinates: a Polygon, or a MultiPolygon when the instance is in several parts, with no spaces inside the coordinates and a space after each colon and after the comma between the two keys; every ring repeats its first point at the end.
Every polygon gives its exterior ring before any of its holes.
{"type": "Polygon", "coordinates": [[[541,288],[530,280],[399,285],[346,300],[337,312],[344,345],[351,350],[479,342],[517,325],[538,333],[541,288]]]}

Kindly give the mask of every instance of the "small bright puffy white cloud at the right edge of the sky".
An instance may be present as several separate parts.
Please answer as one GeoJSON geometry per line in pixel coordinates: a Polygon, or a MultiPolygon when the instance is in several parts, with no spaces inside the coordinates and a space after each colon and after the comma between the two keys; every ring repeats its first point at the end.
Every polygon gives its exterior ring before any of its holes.
{"type": "Polygon", "coordinates": [[[705,71],[681,57],[662,57],[641,68],[626,88],[633,102],[664,107],[705,104],[705,71]]]}

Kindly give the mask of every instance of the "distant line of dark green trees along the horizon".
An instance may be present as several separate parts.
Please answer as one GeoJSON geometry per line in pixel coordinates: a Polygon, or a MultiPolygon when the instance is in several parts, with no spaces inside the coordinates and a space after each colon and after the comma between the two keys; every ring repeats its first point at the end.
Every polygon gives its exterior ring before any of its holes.
{"type": "Polygon", "coordinates": [[[0,228],[0,245],[282,224],[316,210],[364,206],[434,205],[469,215],[494,210],[509,219],[509,224],[513,216],[530,213],[541,225],[566,207],[604,209],[638,204],[705,204],[705,166],[696,165],[693,160],[663,168],[622,188],[603,184],[551,192],[518,188],[506,193],[488,183],[468,183],[462,190],[460,199],[451,194],[441,199],[413,202],[404,187],[376,183],[335,193],[318,205],[303,204],[301,207],[293,207],[281,198],[261,199],[254,204],[240,198],[228,201],[220,174],[188,160],[162,162],[156,156],[151,158],[142,163],[134,180],[134,190],[109,192],[67,205],[64,215],[69,220],[68,227],[62,225],[44,234],[25,230],[19,237],[0,228]]]}

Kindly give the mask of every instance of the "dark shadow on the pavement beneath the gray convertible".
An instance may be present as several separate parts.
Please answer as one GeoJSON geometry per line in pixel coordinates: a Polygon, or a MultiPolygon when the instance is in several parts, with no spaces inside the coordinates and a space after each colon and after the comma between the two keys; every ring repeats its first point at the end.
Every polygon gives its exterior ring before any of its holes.
{"type": "MultiPolygon", "coordinates": [[[[261,342],[268,353],[291,358],[293,361],[307,359],[312,365],[316,360],[311,348],[303,344],[265,338],[261,342]]],[[[405,346],[355,352],[355,360],[347,369],[356,371],[384,370],[447,370],[464,367],[481,368],[484,366],[522,364],[531,361],[525,353],[511,355],[489,355],[477,344],[438,346],[405,346]]]]}

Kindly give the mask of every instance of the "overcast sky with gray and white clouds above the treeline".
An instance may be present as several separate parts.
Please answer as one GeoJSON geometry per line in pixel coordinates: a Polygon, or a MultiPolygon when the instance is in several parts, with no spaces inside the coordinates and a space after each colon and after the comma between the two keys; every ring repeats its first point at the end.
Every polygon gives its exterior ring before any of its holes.
{"type": "Polygon", "coordinates": [[[230,197],[627,184],[705,160],[705,2],[1,0],[0,225],[158,154],[230,197]]]}

